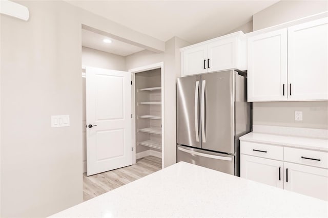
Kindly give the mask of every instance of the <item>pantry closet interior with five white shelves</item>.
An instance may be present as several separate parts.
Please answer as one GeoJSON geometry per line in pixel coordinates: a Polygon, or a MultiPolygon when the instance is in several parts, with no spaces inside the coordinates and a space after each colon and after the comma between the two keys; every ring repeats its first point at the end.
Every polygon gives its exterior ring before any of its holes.
{"type": "Polygon", "coordinates": [[[137,152],[161,150],[161,78],[160,70],[136,76],[136,144],[137,152]]]}

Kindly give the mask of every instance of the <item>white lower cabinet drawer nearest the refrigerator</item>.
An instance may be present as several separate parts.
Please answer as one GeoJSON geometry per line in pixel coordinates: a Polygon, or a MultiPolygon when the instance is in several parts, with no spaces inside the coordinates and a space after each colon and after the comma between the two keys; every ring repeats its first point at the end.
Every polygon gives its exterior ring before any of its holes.
{"type": "Polygon", "coordinates": [[[262,158],[283,160],[283,147],[268,144],[241,141],[240,153],[262,158]]]}

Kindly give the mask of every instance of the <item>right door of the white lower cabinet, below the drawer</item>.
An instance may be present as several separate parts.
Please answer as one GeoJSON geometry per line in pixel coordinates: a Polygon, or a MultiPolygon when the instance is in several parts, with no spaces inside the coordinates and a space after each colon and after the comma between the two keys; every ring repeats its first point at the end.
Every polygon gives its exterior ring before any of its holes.
{"type": "Polygon", "coordinates": [[[328,201],[328,169],[284,163],[284,189],[328,201]]]}

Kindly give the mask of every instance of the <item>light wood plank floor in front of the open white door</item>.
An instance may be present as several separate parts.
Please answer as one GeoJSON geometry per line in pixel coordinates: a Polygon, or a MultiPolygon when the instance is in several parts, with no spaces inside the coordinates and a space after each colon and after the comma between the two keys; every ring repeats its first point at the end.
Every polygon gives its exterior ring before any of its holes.
{"type": "Polygon", "coordinates": [[[83,175],[83,200],[118,188],[161,169],[161,159],[147,156],[136,160],[136,164],[87,177],[83,175]]]}

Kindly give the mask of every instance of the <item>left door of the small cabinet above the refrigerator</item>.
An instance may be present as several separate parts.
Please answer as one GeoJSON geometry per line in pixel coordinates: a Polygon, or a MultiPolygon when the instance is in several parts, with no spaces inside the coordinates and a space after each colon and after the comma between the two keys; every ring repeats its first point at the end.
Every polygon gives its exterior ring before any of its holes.
{"type": "Polygon", "coordinates": [[[207,72],[207,45],[189,48],[181,56],[182,76],[207,72]]]}

